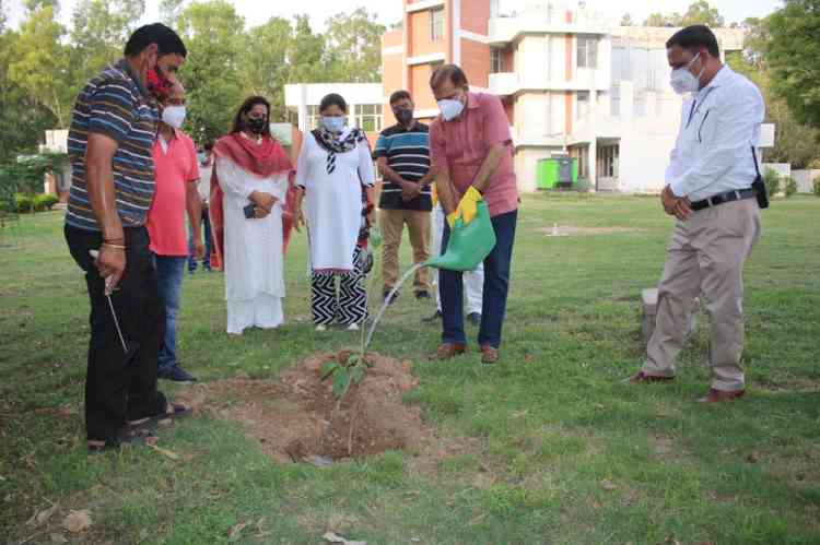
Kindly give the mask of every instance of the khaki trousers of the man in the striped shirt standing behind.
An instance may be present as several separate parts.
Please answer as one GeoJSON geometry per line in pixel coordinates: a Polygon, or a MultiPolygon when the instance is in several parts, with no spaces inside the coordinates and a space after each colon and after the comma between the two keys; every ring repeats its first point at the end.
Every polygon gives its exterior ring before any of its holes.
{"type": "MultiPolygon", "coordinates": [[[[422,210],[382,210],[379,223],[384,237],[382,250],[382,279],[384,291],[393,289],[399,277],[399,247],[401,234],[407,224],[410,245],[413,247],[413,263],[430,259],[430,212],[422,210]]],[[[426,268],[415,271],[415,292],[430,292],[426,268]]]]}

